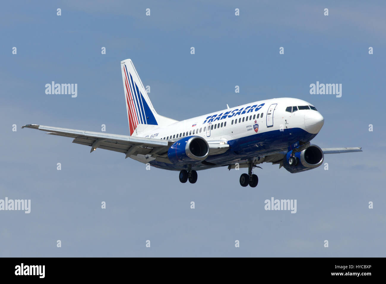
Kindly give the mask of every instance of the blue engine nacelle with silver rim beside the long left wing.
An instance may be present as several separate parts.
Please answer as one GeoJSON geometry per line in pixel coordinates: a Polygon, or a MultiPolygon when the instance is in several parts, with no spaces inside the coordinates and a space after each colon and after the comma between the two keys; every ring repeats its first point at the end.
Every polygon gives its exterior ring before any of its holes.
{"type": "Polygon", "coordinates": [[[187,136],[178,141],[168,150],[168,158],[175,164],[186,164],[203,161],[209,155],[208,142],[200,136],[187,136]]]}

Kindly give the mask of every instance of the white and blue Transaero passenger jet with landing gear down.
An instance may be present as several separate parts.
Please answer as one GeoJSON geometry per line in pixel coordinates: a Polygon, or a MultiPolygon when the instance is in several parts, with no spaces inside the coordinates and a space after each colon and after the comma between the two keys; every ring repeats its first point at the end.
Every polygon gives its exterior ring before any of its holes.
{"type": "Polygon", "coordinates": [[[151,166],[179,171],[179,181],[197,181],[197,171],[248,168],[240,185],[256,187],[261,163],[291,173],[322,165],[325,154],[361,152],[361,147],[320,148],[310,144],[324,124],[316,107],[294,98],[267,99],[183,121],[159,115],[130,59],[121,61],[129,135],[27,124],[22,128],[73,138],[73,143],[116,151],[151,166]]]}

